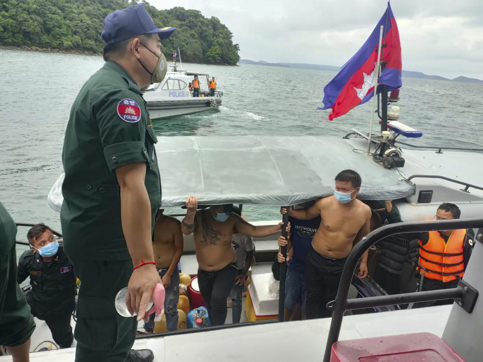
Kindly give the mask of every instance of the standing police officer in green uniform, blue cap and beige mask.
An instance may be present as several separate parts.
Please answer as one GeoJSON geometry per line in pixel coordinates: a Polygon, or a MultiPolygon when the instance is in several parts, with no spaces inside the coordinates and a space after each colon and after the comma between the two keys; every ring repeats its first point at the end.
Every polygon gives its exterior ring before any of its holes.
{"type": "Polygon", "coordinates": [[[167,61],[142,4],[104,19],[106,63],[84,84],[65,131],[60,212],[64,250],[81,280],[75,361],[152,361],[132,350],[156,283],[151,235],[161,204],[157,142],[141,89],[161,81],[167,61]],[[136,318],[116,313],[117,292],[136,318]]]}

